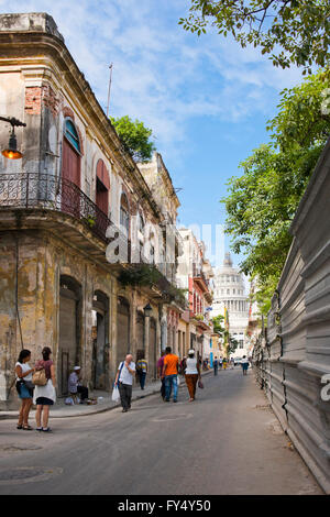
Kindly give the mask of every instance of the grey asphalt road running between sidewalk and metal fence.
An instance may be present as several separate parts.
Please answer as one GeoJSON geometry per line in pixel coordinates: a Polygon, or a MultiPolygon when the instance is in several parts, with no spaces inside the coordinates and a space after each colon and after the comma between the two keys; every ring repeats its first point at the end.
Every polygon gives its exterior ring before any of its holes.
{"type": "Polygon", "coordinates": [[[188,402],[153,395],[121,409],[53,419],[52,435],[0,421],[0,494],[322,494],[253,373],[204,378],[188,402]]]}

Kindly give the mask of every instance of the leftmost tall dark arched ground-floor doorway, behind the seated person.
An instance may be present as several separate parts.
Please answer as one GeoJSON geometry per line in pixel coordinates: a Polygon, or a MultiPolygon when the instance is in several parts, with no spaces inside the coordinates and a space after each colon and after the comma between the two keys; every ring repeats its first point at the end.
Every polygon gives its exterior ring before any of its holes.
{"type": "Polygon", "coordinates": [[[67,394],[70,370],[80,359],[81,286],[73,277],[59,279],[59,339],[57,380],[59,396],[67,394]]]}

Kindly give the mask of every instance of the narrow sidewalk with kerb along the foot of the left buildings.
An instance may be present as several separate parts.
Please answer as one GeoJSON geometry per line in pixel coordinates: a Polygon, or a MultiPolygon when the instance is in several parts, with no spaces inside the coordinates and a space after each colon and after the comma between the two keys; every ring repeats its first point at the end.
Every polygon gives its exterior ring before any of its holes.
{"type": "MultiPolygon", "coordinates": [[[[207,375],[212,373],[211,370],[207,372],[201,372],[201,375],[207,375]]],[[[179,375],[180,385],[179,389],[185,387],[186,382],[185,378],[179,375]]],[[[145,386],[144,389],[141,389],[140,385],[135,385],[133,387],[132,393],[132,402],[139,400],[140,398],[147,397],[150,395],[154,395],[161,392],[161,381],[156,381],[154,383],[150,383],[145,386]]],[[[52,418],[66,418],[66,417],[82,417],[88,415],[96,415],[98,413],[109,411],[110,409],[114,409],[116,407],[121,407],[120,400],[114,403],[111,400],[112,391],[109,392],[101,392],[95,391],[89,394],[89,398],[97,398],[98,404],[95,405],[87,405],[87,404],[76,404],[75,406],[67,406],[64,404],[64,398],[57,399],[56,404],[52,406],[51,413],[52,418]]],[[[35,410],[30,411],[30,418],[33,418],[35,415],[35,410]]],[[[16,419],[19,417],[19,409],[13,411],[0,411],[0,420],[8,420],[8,419],[16,419]]]]}

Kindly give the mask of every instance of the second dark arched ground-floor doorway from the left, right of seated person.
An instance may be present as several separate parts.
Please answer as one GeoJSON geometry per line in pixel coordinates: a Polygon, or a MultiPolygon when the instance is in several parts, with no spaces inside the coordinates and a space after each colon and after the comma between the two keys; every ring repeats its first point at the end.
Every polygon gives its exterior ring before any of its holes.
{"type": "Polygon", "coordinates": [[[109,298],[96,290],[92,299],[92,366],[95,389],[109,387],[109,298]]]}

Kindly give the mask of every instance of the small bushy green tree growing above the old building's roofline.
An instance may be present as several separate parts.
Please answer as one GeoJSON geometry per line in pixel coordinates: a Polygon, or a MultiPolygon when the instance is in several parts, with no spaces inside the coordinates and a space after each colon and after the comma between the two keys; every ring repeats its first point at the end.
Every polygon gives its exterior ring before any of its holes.
{"type": "Polygon", "coordinates": [[[128,116],[110,117],[110,121],[135,162],[145,163],[152,158],[156,147],[150,140],[153,134],[151,129],[145,128],[144,123],[138,119],[132,121],[128,116]]]}

